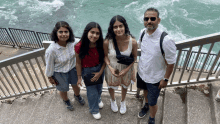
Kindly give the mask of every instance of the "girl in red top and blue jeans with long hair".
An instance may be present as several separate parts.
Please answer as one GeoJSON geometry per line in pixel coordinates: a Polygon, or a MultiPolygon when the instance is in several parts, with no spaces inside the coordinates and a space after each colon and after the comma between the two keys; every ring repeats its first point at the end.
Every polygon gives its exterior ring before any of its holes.
{"type": "Polygon", "coordinates": [[[77,85],[82,86],[83,78],[87,90],[89,110],[95,119],[100,119],[99,108],[103,107],[101,94],[105,63],[102,30],[98,23],[90,22],[87,24],[81,41],[75,46],[75,52],[77,85]]]}

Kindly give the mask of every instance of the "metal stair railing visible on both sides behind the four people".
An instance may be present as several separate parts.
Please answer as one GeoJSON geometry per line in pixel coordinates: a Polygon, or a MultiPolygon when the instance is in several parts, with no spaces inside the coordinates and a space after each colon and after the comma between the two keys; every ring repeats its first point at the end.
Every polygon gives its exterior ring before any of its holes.
{"type": "MultiPolygon", "coordinates": [[[[48,36],[48,34],[45,35],[48,36]]],[[[218,33],[177,42],[177,62],[170,77],[169,86],[220,80],[220,69],[217,67],[220,61],[220,50],[215,57],[211,57],[213,58],[212,62],[209,62],[209,56],[211,55],[212,48],[215,43],[219,41],[220,34],[218,33]],[[208,49],[206,56],[200,60],[199,57],[202,57],[203,54],[201,50],[206,44],[211,44],[211,46],[208,49]],[[199,47],[199,50],[193,50],[194,47],[199,47]],[[187,53],[184,53],[184,49],[186,48],[189,50],[187,53]],[[190,62],[190,58],[194,61],[190,62]],[[200,62],[200,66],[198,66],[200,69],[196,70],[196,64],[198,62],[200,62]],[[186,68],[187,64],[190,68],[186,68]],[[209,66],[208,69],[206,69],[206,65],[209,66]],[[188,72],[186,72],[186,69],[188,72]],[[203,70],[208,70],[205,78],[201,78],[203,70]],[[213,70],[215,70],[216,73],[211,76],[213,70]],[[192,75],[194,75],[194,73],[198,76],[192,79],[192,75]]],[[[0,100],[55,88],[48,82],[44,74],[44,54],[45,49],[50,43],[51,41],[46,41],[44,48],[36,49],[34,51],[0,61],[0,100]]],[[[138,54],[141,55],[140,50],[138,50],[138,54]]],[[[104,90],[107,90],[107,87],[104,87],[104,90]]],[[[120,90],[116,92],[120,92],[120,90]]],[[[128,92],[135,94],[137,91],[134,90],[131,85],[128,92]]]]}

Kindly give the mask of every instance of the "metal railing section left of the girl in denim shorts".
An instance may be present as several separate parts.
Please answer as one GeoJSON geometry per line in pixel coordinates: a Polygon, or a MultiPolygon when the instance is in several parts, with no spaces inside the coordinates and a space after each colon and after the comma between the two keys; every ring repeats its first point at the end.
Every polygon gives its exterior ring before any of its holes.
{"type": "Polygon", "coordinates": [[[0,61],[0,100],[53,89],[45,74],[45,49],[0,61]]]}

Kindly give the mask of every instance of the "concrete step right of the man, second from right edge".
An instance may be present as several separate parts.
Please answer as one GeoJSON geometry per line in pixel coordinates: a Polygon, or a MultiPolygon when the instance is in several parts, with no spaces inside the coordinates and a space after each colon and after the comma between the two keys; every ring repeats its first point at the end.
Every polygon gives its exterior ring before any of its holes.
{"type": "Polygon", "coordinates": [[[209,94],[200,86],[187,87],[187,124],[212,124],[209,94]]]}

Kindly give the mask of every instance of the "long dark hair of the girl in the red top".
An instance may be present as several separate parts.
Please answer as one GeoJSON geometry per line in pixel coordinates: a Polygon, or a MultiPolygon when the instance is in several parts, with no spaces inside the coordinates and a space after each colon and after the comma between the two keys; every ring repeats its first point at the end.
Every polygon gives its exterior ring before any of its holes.
{"type": "Polygon", "coordinates": [[[79,58],[83,59],[85,55],[89,55],[90,40],[88,39],[88,33],[92,28],[98,28],[100,32],[99,39],[96,41],[96,48],[99,53],[99,62],[103,63],[104,62],[104,50],[103,50],[102,29],[100,25],[96,22],[88,23],[84,29],[84,32],[81,38],[82,45],[80,47],[79,58]]]}

